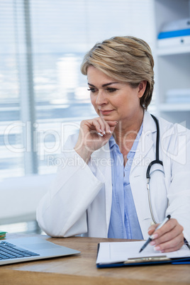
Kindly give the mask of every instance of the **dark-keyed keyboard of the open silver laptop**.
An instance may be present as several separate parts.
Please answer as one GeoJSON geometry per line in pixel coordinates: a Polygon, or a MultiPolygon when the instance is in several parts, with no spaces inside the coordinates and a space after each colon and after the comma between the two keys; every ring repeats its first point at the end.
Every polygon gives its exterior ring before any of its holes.
{"type": "Polygon", "coordinates": [[[21,258],[21,257],[33,257],[37,256],[38,253],[30,252],[29,250],[24,250],[21,247],[17,247],[9,242],[0,242],[0,260],[11,259],[11,258],[21,258]]]}

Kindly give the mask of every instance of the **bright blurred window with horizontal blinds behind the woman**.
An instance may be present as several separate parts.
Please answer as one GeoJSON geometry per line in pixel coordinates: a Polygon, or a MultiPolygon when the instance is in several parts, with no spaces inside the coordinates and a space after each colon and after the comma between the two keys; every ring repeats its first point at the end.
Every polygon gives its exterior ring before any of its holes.
{"type": "Polygon", "coordinates": [[[23,10],[26,0],[0,1],[2,177],[55,172],[47,156],[60,153],[60,124],[70,124],[68,135],[76,126],[70,122],[94,116],[86,78],[79,71],[87,50],[114,35],[134,35],[150,45],[154,40],[152,0],[27,2],[28,10],[23,10]],[[28,87],[22,93],[23,86],[28,87]],[[22,124],[30,109],[30,130],[20,126],[4,136],[7,126],[22,124]],[[13,152],[9,145],[23,152],[13,152]]]}

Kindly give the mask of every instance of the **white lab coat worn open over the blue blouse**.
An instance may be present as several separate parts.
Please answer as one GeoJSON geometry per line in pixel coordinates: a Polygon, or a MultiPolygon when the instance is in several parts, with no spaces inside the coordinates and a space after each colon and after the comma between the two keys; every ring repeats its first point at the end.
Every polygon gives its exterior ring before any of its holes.
{"type": "MultiPolygon", "coordinates": [[[[177,218],[190,241],[190,131],[159,118],[160,160],[151,169],[150,191],[157,223],[167,214],[177,218]],[[157,171],[155,171],[157,170],[157,171]],[[168,206],[169,202],[169,206],[168,206]]],[[[130,170],[130,186],[143,233],[152,222],[147,199],[147,166],[155,160],[156,125],[145,112],[143,133],[130,170]]],[[[69,237],[83,234],[107,238],[111,216],[111,156],[108,143],[91,155],[87,165],[74,151],[77,135],[67,140],[62,166],[50,190],[40,201],[37,220],[47,235],[69,237]]]]}

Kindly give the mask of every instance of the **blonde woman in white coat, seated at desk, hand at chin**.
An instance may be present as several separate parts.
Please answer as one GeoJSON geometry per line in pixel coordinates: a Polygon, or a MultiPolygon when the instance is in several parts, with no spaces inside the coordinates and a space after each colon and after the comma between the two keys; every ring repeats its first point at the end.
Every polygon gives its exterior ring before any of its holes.
{"type": "Polygon", "coordinates": [[[154,86],[149,45],[115,37],[87,52],[91,104],[97,117],[82,121],[67,140],[62,166],[40,201],[37,220],[53,237],[147,239],[155,250],[179,250],[190,241],[190,133],[147,112],[154,86]],[[146,172],[150,169],[150,199],[146,172]],[[171,219],[156,230],[164,217],[171,219]],[[155,222],[155,223],[153,223],[155,222]]]}

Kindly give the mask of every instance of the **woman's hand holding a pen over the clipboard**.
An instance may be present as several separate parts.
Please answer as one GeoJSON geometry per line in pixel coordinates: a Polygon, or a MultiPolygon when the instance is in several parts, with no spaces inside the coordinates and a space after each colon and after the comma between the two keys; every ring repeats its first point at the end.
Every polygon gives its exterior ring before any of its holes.
{"type": "Polygon", "coordinates": [[[173,252],[179,250],[184,245],[184,228],[174,218],[165,223],[162,228],[156,230],[157,226],[151,225],[148,234],[153,234],[153,240],[150,245],[155,246],[155,250],[160,252],[173,252]]]}

